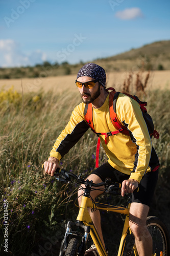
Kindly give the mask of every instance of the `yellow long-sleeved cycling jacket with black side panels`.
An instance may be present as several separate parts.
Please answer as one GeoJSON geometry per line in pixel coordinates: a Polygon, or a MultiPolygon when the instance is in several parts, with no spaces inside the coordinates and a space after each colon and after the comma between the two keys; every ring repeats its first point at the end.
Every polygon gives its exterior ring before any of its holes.
{"type": "MultiPolygon", "coordinates": [[[[83,102],[76,106],[68,124],[57,138],[50,156],[60,160],[89,129],[84,119],[84,109],[83,102]]],[[[116,102],[116,114],[119,121],[127,126],[130,136],[118,133],[109,136],[105,144],[105,135],[100,135],[103,148],[111,166],[130,175],[130,179],[140,182],[145,172],[154,171],[159,166],[140,105],[120,93],[116,102]]],[[[93,124],[96,133],[116,131],[110,120],[109,95],[101,108],[93,108],[93,124]]]]}

